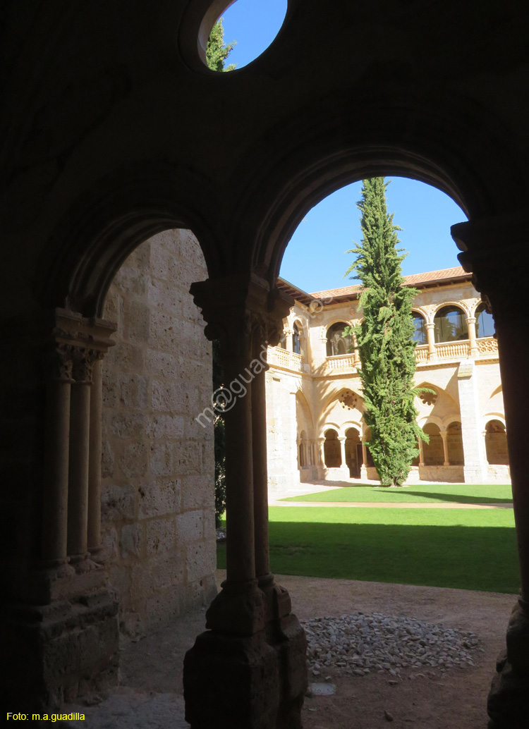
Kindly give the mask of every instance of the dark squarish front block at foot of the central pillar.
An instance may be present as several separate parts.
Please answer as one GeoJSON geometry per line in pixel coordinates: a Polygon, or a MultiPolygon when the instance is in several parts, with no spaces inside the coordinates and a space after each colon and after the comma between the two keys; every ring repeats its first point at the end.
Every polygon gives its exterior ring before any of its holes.
{"type": "Polygon", "coordinates": [[[206,631],[184,660],[185,720],[191,729],[276,729],[277,655],[264,631],[206,631]]]}

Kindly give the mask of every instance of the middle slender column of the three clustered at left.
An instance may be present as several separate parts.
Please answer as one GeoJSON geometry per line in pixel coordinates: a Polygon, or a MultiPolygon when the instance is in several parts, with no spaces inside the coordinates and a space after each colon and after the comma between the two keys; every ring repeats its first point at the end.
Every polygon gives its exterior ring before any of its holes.
{"type": "Polygon", "coordinates": [[[90,385],[93,353],[76,348],[74,384],[70,403],[70,456],[68,494],[68,553],[76,569],[88,552],[88,466],[90,454],[90,385]]]}

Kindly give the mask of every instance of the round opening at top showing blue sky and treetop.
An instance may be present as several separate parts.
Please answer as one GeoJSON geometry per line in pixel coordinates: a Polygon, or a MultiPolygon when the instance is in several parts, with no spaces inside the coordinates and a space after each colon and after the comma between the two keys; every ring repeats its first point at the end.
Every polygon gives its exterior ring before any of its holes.
{"type": "Polygon", "coordinates": [[[212,71],[234,71],[255,61],[274,41],[285,20],[287,0],[236,0],[212,28],[206,62],[212,71]]]}

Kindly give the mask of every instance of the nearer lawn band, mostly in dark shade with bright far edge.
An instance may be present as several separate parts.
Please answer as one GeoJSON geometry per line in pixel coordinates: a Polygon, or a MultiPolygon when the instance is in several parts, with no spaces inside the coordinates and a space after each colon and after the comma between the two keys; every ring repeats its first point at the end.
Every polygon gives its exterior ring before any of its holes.
{"type": "Polygon", "coordinates": [[[506,509],[270,507],[270,556],[278,574],[503,593],[520,585],[506,509]]]}

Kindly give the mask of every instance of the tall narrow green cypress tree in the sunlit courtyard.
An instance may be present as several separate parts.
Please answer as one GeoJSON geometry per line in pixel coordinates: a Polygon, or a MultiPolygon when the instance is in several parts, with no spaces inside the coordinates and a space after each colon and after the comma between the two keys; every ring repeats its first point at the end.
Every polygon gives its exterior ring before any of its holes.
{"type": "Polygon", "coordinates": [[[387,214],[383,177],[363,181],[360,244],[348,253],[357,258],[346,272],[356,272],[363,286],[360,307],[364,319],[345,334],[358,342],[365,404],[364,419],[371,429],[369,450],[382,486],[402,486],[412,461],[419,455],[417,440],[428,437],[417,425],[413,386],[415,343],[412,302],[416,289],[403,286],[393,214],[387,214]]]}

